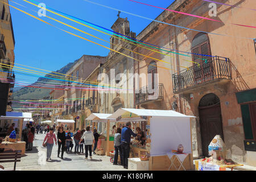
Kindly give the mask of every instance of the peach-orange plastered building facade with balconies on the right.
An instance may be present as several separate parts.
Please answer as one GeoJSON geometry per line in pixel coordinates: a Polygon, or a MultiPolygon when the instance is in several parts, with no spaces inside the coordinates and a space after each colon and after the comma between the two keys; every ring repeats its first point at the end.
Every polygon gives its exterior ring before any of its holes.
{"type": "MultiPolygon", "coordinates": [[[[230,3],[241,7],[256,6],[254,1],[234,0],[230,3]]],[[[217,17],[210,17],[209,2],[197,0],[175,1],[167,9],[217,19],[222,23],[163,11],[156,20],[201,32],[158,22],[151,22],[144,28],[137,39],[165,47],[167,49],[162,49],[170,52],[161,50],[167,54],[163,55],[134,48],[165,61],[145,57],[144,61],[135,64],[136,73],[146,74],[152,72],[148,64],[157,65],[154,69],[158,73],[158,83],[163,84],[163,97],[145,101],[140,98],[143,94],[137,94],[136,107],[173,109],[195,115],[197,118],[192,122],[194,156],[208,155],[210,140],[219,134],[228,147],[228,158],[256,166],[256,52],[253,39],[246,39],[255,38],[255,30],[230,24],[253,25],[251,23],[256,22],[254,12],[217,5],[217,17]]],[[[136,55],[138,57],[143,59],[136,55]]],[[[140,87],[143,86],[146,84],[140,83],[140,87]]]]}

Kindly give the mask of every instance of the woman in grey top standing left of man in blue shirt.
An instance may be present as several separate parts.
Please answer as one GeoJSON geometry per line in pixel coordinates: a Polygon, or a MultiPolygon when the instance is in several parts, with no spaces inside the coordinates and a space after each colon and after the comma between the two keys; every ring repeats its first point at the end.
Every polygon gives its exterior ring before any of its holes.
{"type": "Polygon", "coordinates": [[[122,148],[121,148],[121,133],[122,133],[122,129],[118,127],[117,133],[115,133],[115,137],[114,137],[115,155],[114,155],[113,165],[117,165],[118,151],[119,151],[121,165],[123,166],[123,158],[122,158],[123,154],[122,154],[122,148]]]}

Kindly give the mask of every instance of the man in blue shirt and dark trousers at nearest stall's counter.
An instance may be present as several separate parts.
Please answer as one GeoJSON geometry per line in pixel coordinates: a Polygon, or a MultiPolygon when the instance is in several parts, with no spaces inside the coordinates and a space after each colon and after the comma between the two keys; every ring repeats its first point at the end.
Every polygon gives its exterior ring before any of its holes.
{"type": "Polygon", "coordinates": [[[129,154],[130,154],[131,135],[133,135],[133,137],[137,136],[137,134],[133,133],[133,130],[131,130],[131,122],[127,122],[126,127],[124,127],[122,129],[122,133],[121,133],[123,168],[126,168],[126,169],[128,169],[128,158],[129,158],[129,154]]]}

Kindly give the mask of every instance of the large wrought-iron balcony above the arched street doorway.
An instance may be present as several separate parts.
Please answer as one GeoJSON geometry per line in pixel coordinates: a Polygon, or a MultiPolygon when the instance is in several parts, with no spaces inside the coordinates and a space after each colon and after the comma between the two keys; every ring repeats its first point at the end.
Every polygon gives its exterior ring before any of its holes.
{"type": "Polygon", "coordinates": [[[214,56],[205,61],[203,65],[194,64],[172,75],[172,86],[174,93],[189,93],[205,84],[218,81],[225,83],[231,79],[230,60],[226,57],[214,56]]]}

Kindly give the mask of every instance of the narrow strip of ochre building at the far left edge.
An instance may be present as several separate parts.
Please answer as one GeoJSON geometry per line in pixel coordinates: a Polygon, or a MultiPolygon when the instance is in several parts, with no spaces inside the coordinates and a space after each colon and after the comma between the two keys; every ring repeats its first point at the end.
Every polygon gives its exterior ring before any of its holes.
{"type": "MultiPolygon", "coordinates": [[[[8,3],[7,0],[3,2],[8,3]]],[[[13,94],[15,75],[14,65],[14,32],[9,6],[0,2],[0,114],[12,111],[11,96],[13,94]],[[9,100],[9,101],[8,101],[9,100]]]]}

